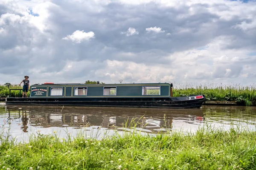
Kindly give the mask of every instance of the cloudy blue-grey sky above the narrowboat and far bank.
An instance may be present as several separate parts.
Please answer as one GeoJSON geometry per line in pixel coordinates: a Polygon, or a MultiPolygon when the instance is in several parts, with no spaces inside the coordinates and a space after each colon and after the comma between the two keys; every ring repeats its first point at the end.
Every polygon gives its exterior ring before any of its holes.
{"type": "Polygon", "coordinates": [[[0,84],[254,85],[256,0],[0,0],[0,84]]]}

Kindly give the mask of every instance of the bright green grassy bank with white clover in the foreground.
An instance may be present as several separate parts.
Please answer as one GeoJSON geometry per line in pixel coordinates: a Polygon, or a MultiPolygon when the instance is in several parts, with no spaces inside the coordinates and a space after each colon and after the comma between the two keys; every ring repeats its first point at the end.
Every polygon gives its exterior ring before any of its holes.
{"type": "Polygon", "coordinates": [[[256,169],[256,132],[203,127],[185,135],[125,133],[97,141],[79,135],[30,138],[15,144],[1,136],[0,168],[23,170],[252,170],[256,169]],[[63,140],[61,142],[61,140],[63,140]]]}

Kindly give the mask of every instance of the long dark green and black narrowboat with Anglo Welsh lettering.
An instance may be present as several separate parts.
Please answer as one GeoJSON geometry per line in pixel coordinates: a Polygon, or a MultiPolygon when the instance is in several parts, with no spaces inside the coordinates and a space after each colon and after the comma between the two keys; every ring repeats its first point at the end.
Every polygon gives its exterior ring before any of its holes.
{"type": "Polygon", "coordinates": [[[55,84],[30,86],[27,98],[8,97],[6,105],[72,105],[139,108],[200,108],[204,95],[172,96],[172,83],[55,84]]]}

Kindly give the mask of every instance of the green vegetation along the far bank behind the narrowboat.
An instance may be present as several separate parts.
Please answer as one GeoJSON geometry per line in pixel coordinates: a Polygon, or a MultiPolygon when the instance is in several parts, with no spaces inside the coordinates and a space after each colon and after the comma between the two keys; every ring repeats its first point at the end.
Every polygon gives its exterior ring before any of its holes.
{"type": "MultiPolygon", "coordinates": [[[[105,84],[87,80],[86,84],[105,84]]],[[[22,89],[22,86],[12,85],[10,88],[22,89]]],[[[209,101],[235,101],[240,105],[252,105],[256,102],[256,88],[253,86],[240,85],[185,85],[173,88],[173,96],[189,96],[193,94],[204,94],[209,101]]],[[[8,97],[7,85],[0,85],[0,97],[8,97]]],[[[11,97],[18,97],[19,91],[11,91],[11,97]]],[[[29,96],[29,94],[28,94],[29,96]]]]}

